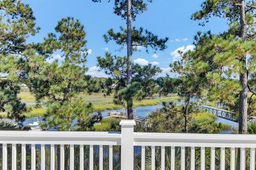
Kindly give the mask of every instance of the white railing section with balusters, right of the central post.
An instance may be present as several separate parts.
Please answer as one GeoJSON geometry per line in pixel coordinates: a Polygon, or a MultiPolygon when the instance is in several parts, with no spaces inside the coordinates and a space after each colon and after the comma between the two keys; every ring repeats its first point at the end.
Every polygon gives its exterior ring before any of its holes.
{"type": "Polygon", "coordinates": [[[255,169],[255,148],[256,135],[235,135],[235,134],[170,134],[170,133],[134,133],[134,146],[142,146],[141,169],[145,169],[145,147],[151,147],[151,169],[155,169],[155,147],[161,147],[161,169],[165,169],[165,148],[171,147],[171,170],[175,167],[175,148],[180,148],[180,169],[185,170],[185,149],[189,149],[187,157],[190,159],[190,169],[195,167],[195,148],[201,150],[200,169],[205,169],[205,149],[210,148],[210,169],[226,168],[225,151],[230,149],[231,170],[235,170],[235,149],[241,149],[240,169],[255,169]],[[215,165],[215,149],[220,148],[220,166],[215,165]],[[250,149],[250,168],[245,166],[245,149],[250,149]]]}

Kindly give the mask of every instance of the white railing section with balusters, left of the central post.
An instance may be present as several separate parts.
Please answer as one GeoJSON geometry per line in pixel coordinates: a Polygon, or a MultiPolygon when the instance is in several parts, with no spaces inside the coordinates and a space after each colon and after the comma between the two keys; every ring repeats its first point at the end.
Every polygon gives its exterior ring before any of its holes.
{"type": "Polygon", "coordinates": [[[84,146],[90,146],[90,170],[93,169],[93,146],[99,146],[99,167],[103,169],[103,146],[109,146],[109,169],[113,168],[113,146],[121,145],[120,133],[108,132],[36,132],[1,131],[3,170],[7,170],[7,155],[12,155],[12,170],[17,169],[17,145],[21,145],[21,170],[26,166],[26,146],[31,148],[31,170],[36,169],[36,145],[41,145],[41,170],[45,170],[45,147],[50,145],[50,169],[55,169],[55,147],[60,146],[60,169],[65,168],[65,146],[69,146],[69,169],[74,170],[74,146],[79,146],[79,169],[84,169],[84,146]],[[11,153],[7,145],[12,145],[11,153]]]}

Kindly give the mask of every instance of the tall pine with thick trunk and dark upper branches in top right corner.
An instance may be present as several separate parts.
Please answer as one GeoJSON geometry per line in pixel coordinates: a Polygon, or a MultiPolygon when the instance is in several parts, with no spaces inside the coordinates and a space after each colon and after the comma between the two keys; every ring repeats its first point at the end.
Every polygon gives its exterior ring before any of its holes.
{"type": "MultiPolygon", "coordinates": [[[[232,33],[244,42],[254,38],[255,1],[244,0],[207,0],[202,4],[202,10],[193,14],[192,19],[209,21],[211,16],[227,18],[233,26],[232,33]],[[239,21],[239,22],[237,22],[239,21]]],[[[203,22],[202,25],[205,23],[203,22]]],[[[246,55],[238,56],[242,64],[239,72],[241,91],[239,92],[239,133],[246,134],[247,131],[247,67],[246,55]]]]}

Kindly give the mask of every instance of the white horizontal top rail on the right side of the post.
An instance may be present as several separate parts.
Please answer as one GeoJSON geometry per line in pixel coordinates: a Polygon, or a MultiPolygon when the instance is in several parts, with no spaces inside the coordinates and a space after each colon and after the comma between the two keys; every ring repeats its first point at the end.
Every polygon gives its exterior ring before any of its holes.
{"type": "Polygon", "coordinates": [[[255,148],[256,135],[134,133],[135,146],[255,148]]]}

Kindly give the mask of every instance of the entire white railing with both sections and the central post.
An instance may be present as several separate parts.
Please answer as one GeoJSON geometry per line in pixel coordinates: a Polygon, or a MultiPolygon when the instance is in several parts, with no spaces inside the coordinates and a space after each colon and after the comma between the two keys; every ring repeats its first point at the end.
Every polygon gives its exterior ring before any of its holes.
{"type": "MultiPolygon", "coordinates": [[[[65,146],[69,146],[69,169],[74,167],[84,169],[84,146],[90,146],[90,170],[93,169],[93,146],[99,146],[99,169],[103,170],[103,146],[109,146],[108,150],[108,168],[113,169],[113,146],[121,146],[121,169],[131,170],[134,166],[134,147],[141,147],[141,165],[142,170],[147,169],[145,159],[146,147],[151,148],[151,169],[156,166],[155,157],[156,149],[161,147],[161,169],[164,170],[166,162],[166,148],[170,151],[170,169],[186,169],[187,157],[189,157],[189,169],[196,169],[196,150],[200,150],[199,169],[205,169],[206,149],[210,150],[210,169],[225,169],[227,160],[229,160],[229,169],[235,170],[237,154],[236,149],[240,148],[240,169],[255,169],[255,148],[256,135],[234,135],[234,134],[178,134],[178,133],[139,133],[134,132],[134,121],[122,120],[121,133],[110,132],[26,132],[26,131],[1,131],[0,143],[2,143],[2,160],[3,169],[7,170],[7,166],[11,165],[12,170],[17,169],[17,145],[21,145],[21,169],[28,169],[26,165],[26,147],[31,148],[31,169],[36,169],[36,146],[40,145],[40,166],[45,170],[45,148],[50,145],[50,169],[55,169],[55,147],[60,146],[60,169],[65,168],[65,146]],[[8,146],[11,151],[8,151],[8,146]],[[75,166],[74,162],[74,146],[79,146],[79,166],[75,166]],[[175,155],[175,149],[180,148],[179,158],[175,155]],[[230,150],[230,158],[227,159],[226,149],[230,150]],[[215,162],[215,150],[220,149],[220,164],[215,162]],[[189,152],[187,152],[189,150],[189,152]],[[249,153],[246,153],[246,150],[249,153]],[[189,153],[186,154],[186,153],[189,153]],[[11,162],[9,162],[11,155],[11,162]],[[250,164],[246,167],[246,159],[250,164]],[[176,160],[179,160],[177,167],[176,160]]],[[[29,152],[30,154],[30,152],[29,152]]]]}

